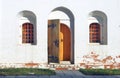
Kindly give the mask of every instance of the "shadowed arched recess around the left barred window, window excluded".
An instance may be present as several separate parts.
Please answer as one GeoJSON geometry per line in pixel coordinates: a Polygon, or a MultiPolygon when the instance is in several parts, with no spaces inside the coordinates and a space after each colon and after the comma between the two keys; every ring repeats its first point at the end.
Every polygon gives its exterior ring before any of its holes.
{"type": "Polygon", "coordinates": [[[30,23],[33,25],[33,43],[37,44],[37,29],[36,29],[36,15],[32,11],[24,10],[18,13],[18,21],[20,26],[20,43],[22,44],[22,25],[25,23],[30,23]]]}

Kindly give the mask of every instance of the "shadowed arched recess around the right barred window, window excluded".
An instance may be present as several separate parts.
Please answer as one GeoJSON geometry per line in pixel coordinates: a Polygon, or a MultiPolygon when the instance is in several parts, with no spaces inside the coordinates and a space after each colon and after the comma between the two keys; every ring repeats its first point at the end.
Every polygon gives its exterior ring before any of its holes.
{"type": "Polygon", "coordinates": [[[100,44],[107,45],[107,15],[102,11],[92,11],[89,13],[88,26],[92,23],[100,25],[100,44]]]}

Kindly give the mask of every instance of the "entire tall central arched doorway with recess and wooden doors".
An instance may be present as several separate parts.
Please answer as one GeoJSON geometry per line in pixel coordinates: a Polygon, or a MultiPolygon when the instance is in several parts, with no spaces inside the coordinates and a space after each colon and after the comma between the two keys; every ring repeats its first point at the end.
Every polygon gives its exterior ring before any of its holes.
{"type": "Polygon", "coordinates": [[[57,7],[48,17],[48,63],[74,63],[74,15],[57,7]]]}

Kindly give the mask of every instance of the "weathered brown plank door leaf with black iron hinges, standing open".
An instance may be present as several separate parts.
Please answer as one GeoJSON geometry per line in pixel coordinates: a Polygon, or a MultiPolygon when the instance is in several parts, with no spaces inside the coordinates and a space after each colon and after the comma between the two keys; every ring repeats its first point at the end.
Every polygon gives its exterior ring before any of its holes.
{"type": "Polygon", "coordinates": [[[48,62],[59,62],[59,20],[48,20],[48,62]]]}

